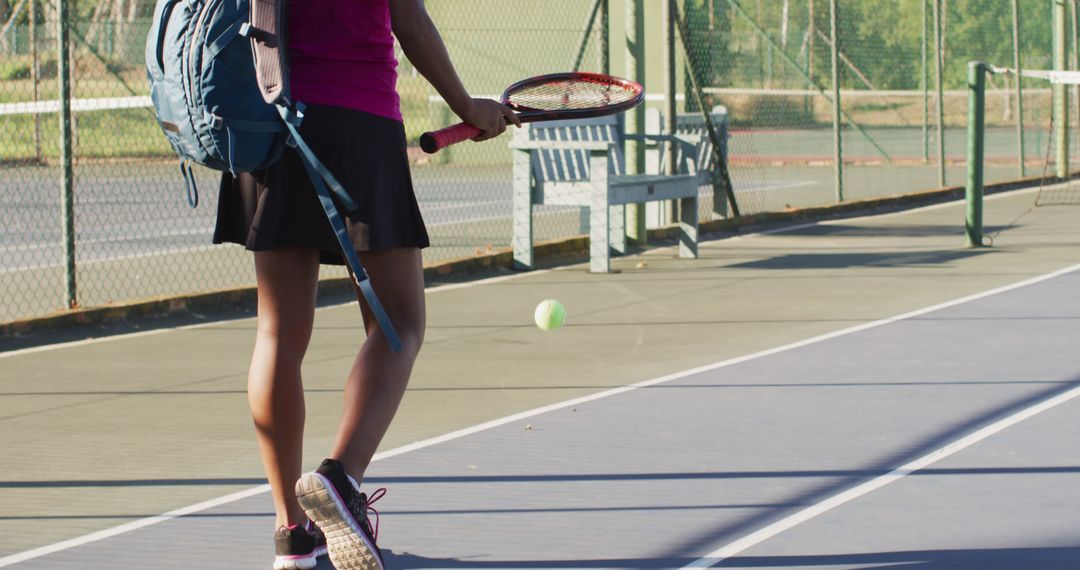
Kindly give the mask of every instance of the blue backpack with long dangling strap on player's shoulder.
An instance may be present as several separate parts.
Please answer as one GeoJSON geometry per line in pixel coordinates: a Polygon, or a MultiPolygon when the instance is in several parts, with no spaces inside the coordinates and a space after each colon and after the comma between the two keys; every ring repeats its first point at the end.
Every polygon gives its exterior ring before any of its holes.
{"type": "Polygon", "coordinates": [[[199,190],[191,163],[237,175],[270,166],[286,145],[296,148],[353,281],[396,352],[401,340],[334,199],[347,213],[357,206],[299,133],[305,107],[288,90],[286,10],[286,0],[158,0],[146,41],[158,124],[180,158],[192,207],[199,190]]]}

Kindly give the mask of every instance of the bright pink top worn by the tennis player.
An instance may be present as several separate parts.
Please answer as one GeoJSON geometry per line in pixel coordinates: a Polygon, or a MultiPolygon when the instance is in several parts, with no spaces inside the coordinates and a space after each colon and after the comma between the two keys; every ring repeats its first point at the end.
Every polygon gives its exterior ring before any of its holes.
{"type": "Polygon", "coordinates": [[[292,0],[293,97],[402,120],[390,0],[292,0]]]}

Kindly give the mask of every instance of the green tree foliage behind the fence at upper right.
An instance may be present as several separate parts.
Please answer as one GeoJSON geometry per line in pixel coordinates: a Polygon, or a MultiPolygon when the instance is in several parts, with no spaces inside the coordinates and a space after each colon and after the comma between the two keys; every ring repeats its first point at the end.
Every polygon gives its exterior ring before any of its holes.
{"type": "MultiPolygon", "coordinates": [[[[694,14],[690,6],[698,13],[707,4],[723,6],[719,12],[725,32],[701,32],[702,38],[724,43],[724,48],[702,52],[705,57],[727,58],[727,68],[716,73],[718,82],[714,85],[805,89],[808,77],[819,86],[831,84],[829,0],[787,0],[786,26],[784,0],[687,0],[687,3],[688,18],[694,14]],[[786,58],[775,53],[781,46],[786,58]]],[[[1010,0],[942,0],[942,4],[945,89],[964,86],[971,60],[1012,67],[1010,0]]],[[[847,59],[841,63],[843,89],[917,90],[923,84],[924,72],[933,85],[931,0],[839,0],[838,5],[840,51],[847,59]]],[[[1050,2],[1022,0],[1020,11],[1023,67],[1051,67],[1050,2]]],[[[693,22],[691,25],[702,27],[693,22]]]]}

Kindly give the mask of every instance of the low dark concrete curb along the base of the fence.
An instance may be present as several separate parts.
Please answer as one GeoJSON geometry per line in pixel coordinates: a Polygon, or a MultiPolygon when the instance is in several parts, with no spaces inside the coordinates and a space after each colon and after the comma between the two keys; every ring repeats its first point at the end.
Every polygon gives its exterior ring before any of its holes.
{"type": "MultiPolygon", "coordinates": [[[[1054,177],[1028,177],[985,186],[987,194],[1005,192],[1031,187],[1041,181],[1057,181],[1054,177]]],[[[957,200],[964,196],[964,187],[953,186],[931,189],[912,194],[875,198],[808,208],[793,208],[784,212],[751,214],[704,222],[699,231],[702,235],[710,233],[740,232],[768,225],[783,225],[840,218],[852,215],[865,215],[878,211],[896,211],[918,207],[927,204],[957,200]]],[[[677,227],[649,230],[650,243],[673,241],[678,233],[677,227]]],[[[588,260],[589,236],[575,235],[558,240],[538,243],[534,249],[537,261],[545,264],[578,262],[588,260]]],[[[513,267],[511,248],[489,249],[483,255],[461,257],[438,261],[424,266],[424,280],[437,281],[448,276],[468,277],[495,270],[509,270],[513,267]]],[[[320,282],[320,296],[345,296],[351,291],[348,277],[327,279],[320,282]]],[[[109,304],[105,307],[79,308],[54,314],[0,323],[0,339],[17,338],[27,335],[65,330],[75,327],[100,327],[121,324],[138,318],[159,318],[193,313],[213,313],[235,311],[238,307],[254,308],[256,300],[255,287],[214,290],[200,294],[139,299],[127,303],[109,304]]]]}

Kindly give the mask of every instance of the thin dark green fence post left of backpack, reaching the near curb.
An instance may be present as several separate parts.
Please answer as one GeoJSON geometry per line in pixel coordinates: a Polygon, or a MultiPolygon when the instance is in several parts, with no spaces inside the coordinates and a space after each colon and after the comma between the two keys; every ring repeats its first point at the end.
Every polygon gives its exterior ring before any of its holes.
{"type": "Polygon", "coordinates": [[[64,235],[65,307],[79,306],[75,275],[75,185],[71,171],[71,27],[68,0],[56,2],[57,66],[60,95],[60,221],[64,235]]]}

